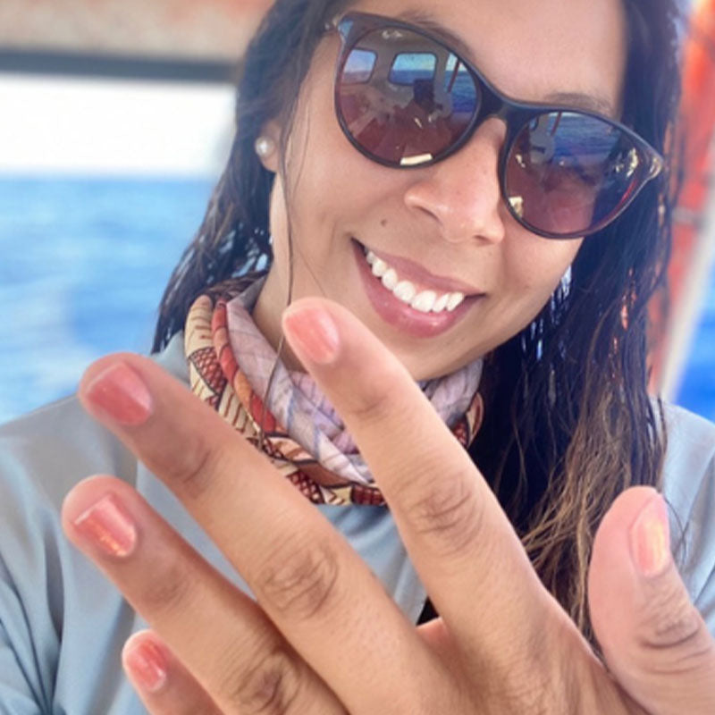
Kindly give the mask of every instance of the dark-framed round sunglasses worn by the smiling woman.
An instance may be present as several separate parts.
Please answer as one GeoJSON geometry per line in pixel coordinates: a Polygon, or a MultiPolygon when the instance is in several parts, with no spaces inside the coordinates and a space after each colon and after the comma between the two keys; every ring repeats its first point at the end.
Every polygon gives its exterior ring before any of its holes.
{"type": "Polygon", "coordinates": [[[497,117],[507,127],[501,196],[518,223],[544,238],[601,231],[663,168],[660,154],[624,124],[505,97],[424,29],[367,13],[348,13],[332,28],[342,39],[335,110],[360,153],[394,168],[429,166],[497,117]]]}

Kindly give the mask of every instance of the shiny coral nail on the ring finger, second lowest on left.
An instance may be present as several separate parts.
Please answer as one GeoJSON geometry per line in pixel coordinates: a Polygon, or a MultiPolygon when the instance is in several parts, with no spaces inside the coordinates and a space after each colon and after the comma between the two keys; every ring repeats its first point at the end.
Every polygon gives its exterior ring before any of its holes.
{"type": "Polygon", "coordinates": [[[110,556],[129,556],[137,543],[137,527],[122,502],[112,493],[83,511],[72,524],[88,541],[110,556]]]}

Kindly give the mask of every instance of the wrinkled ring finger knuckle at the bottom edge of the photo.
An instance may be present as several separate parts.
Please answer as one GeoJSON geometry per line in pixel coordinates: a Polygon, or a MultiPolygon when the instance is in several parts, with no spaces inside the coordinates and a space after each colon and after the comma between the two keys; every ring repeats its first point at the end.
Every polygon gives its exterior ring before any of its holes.
{"type": "Polygon", "coordinates": [[[277,647],[239,677],[227,670],[219,692],[241,715],[286,715],[297,710],[301,680],[295,656],[277,647]]]}

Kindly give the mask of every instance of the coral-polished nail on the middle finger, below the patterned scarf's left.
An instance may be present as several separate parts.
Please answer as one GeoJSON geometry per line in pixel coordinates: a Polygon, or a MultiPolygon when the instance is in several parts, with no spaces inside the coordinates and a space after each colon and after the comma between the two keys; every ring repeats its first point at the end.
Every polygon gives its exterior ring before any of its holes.
{"type": "Polygon", "coordinates": [[[89,383],[87,399],[121,425],[141,425],[151,415],[151,393],[130,366],[115,363],[89,383]]]}

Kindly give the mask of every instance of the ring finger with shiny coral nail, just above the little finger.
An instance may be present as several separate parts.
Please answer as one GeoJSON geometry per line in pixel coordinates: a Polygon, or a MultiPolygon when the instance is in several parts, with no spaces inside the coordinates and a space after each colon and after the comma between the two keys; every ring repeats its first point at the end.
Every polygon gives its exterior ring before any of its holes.
{"type": "Polygon", "coordinates": [[[114,581],[226,713],[343,710],[248,596],[128,484],[95,477],[63,503],[65,534],[114,581]]]}

